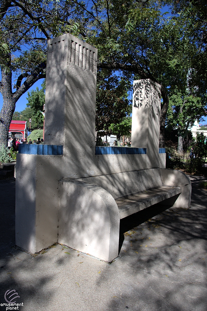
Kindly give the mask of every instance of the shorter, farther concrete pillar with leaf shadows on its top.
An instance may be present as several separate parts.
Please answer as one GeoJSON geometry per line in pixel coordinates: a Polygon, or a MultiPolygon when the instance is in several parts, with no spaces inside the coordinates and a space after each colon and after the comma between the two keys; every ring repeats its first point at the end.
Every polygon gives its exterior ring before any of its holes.
{"type": "Polygon", "coordinates": [[[134,81],[131,145],[147,148],[152,167],[159,158],[160,110],[161,85],[150,79],[134,81]]]}

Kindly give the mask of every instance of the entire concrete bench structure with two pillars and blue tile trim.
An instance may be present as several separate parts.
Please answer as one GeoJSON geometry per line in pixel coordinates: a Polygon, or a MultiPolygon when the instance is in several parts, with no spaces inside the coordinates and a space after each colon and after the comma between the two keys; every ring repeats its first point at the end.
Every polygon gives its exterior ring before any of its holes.
{"type": "Polygon", "coordinates": [[[45,144],[20,145],[16,164],[16,245],[30,253],[58,242],[111,262],[121,218],[190,206],[189,178],[159,148],[159,84],[134,81],[131,148],[95,146],[96,64],[70,34],[48,41],[45,144]]]}

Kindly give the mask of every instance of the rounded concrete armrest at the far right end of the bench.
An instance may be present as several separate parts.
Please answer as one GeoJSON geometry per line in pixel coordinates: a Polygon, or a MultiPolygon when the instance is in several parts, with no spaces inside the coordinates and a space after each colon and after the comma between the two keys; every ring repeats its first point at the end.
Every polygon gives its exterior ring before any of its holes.
{"type": "Polygon", "coordinates": [[[174,202],[173,198],[163,202],[165,205],[189,208],[191,204],[191,181],[189,177],[177,169],[160,169],[161,179],[166,186],[181,187],[181,194],[174,202]]]}

